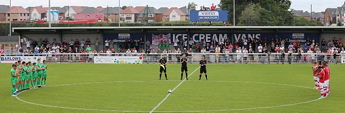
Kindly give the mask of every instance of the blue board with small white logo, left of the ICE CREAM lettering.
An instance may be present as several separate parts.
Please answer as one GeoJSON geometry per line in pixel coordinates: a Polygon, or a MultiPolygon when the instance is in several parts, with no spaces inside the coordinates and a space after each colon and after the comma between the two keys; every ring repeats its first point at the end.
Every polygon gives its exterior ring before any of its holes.
{"type": "Polygon", "coordinates": [[[126,39],[130,40],[133,38],[134,40],[144,40],[144,34],[104,34],[104,40],[106,38],[112,39],[114,42],[125,42],[126,39]]]}

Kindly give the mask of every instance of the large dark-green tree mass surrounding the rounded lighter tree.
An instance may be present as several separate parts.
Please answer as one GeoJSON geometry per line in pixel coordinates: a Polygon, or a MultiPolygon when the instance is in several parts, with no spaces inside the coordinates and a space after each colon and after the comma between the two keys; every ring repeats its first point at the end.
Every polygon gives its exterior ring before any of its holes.
{"type": "Polygon", "coordinates": [[[268,21],[268,24],[264,26],[292,26],[294,15],[289,11],[291,1],[290,0],[235,0],[235,11],[234,11],[234,0],[220,0],[218,6],[223,10],[228,9],[229,11],[229,21],[233,21],[233,15],[235,12],[235,23],[239,23],[238,20],[241,13],[246,9],[248,4],[256,4],[254,8],[257,7],[257,11],[261,14],[260,19],[268,21]],[[260,10],[259,10],[260,9],[260,10]]]}

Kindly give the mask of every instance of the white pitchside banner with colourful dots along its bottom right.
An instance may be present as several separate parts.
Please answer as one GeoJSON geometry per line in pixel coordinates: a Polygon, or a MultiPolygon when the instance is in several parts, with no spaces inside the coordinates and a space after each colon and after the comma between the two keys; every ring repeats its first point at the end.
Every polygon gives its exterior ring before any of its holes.
{"type": "Polygon", "coordinates": [[[142,56],[95,56],[95,64],[142,64],[142,56]]]}

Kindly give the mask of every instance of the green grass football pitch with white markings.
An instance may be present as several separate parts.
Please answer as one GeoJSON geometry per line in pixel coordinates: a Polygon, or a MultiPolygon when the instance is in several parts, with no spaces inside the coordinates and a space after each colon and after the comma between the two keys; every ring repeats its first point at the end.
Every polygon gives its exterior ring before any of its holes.
{"type": "Polygon", "coordinates": [[[1,113],[344,113],[345,65],[330,64],[330,95],[317,100],[311,65],[48,64],[47,86],[11,97],[10,64],[1,64],[1,113]],[[183,74],[183,79],[185,79],[183,74]],[[168,90],[172,89],[171,94],[168,90]]]}

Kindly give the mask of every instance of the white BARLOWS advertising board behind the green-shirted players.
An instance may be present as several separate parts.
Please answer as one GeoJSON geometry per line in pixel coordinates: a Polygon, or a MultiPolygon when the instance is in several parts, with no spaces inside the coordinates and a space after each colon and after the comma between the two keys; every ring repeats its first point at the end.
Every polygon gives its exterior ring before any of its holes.
{"type": "Polygon", "coordinates": [[[41,63],[43,60],[46,60],[45,56],[1,56],[1,63],[6,63],[6,64],[13,64],[14,62],[17,62],[18,60],[29,62],[31,61],[32,63],[36,62],[37,59],[41,59],[41,63]]]}

